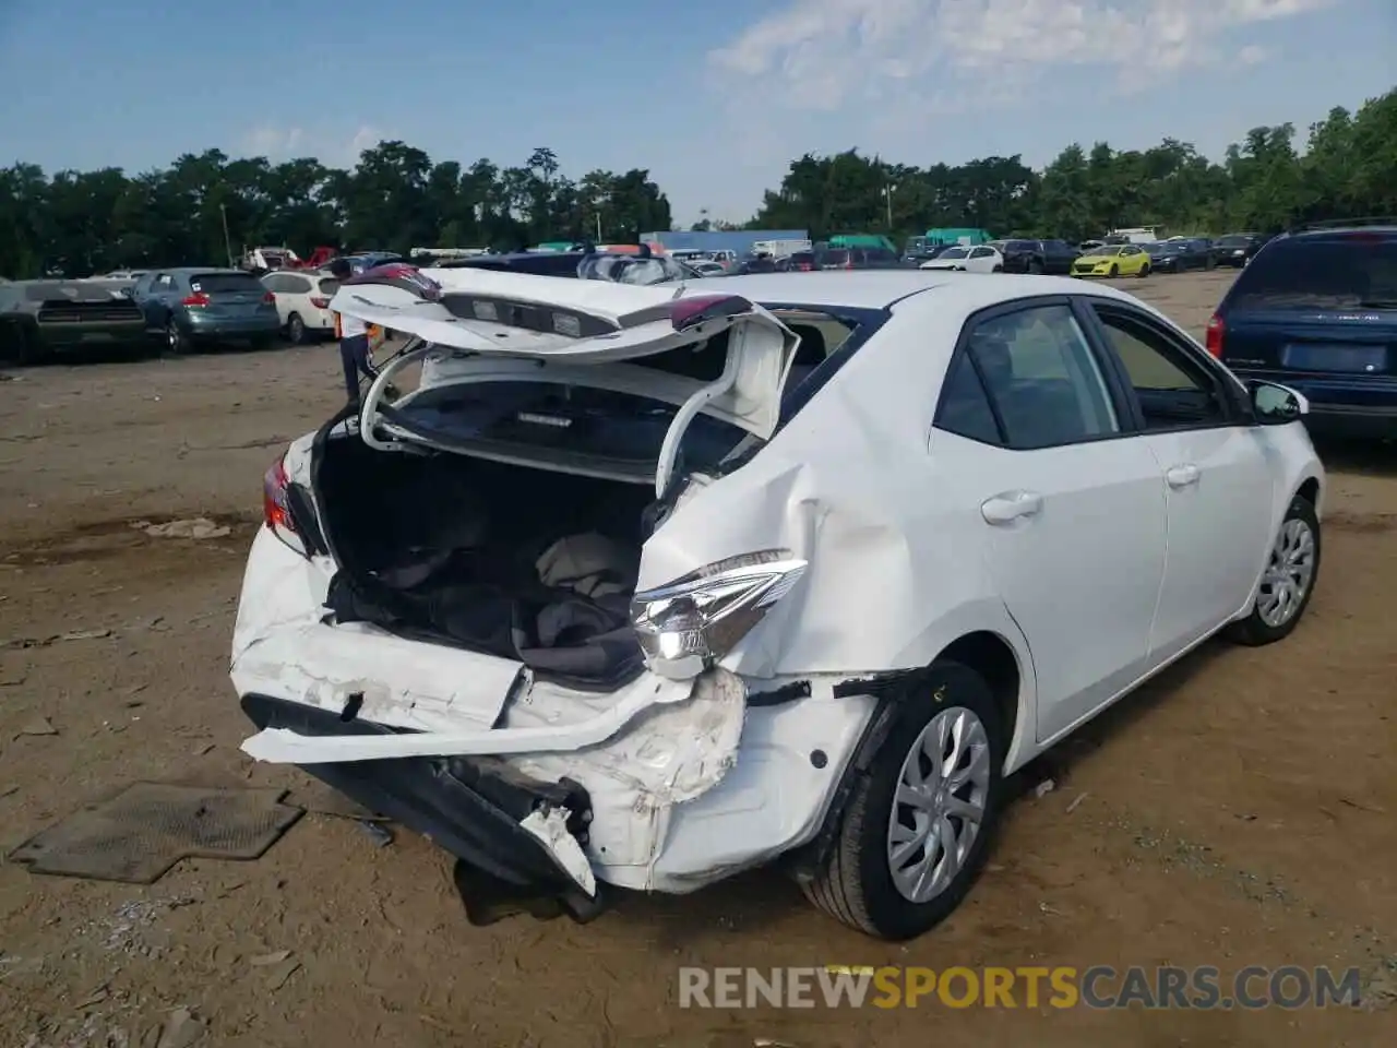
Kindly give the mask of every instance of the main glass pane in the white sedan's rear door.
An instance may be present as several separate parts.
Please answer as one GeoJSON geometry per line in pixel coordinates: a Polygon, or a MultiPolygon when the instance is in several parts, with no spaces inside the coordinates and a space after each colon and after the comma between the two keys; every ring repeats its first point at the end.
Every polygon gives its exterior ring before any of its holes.
{"type": "Polygon", "coordinates": [[[1067,306],[1034,306],[982,320],[967,340],[967,352],[1009,447],[1053,447],[1119,432],[1105,379],[1067,306]]]}

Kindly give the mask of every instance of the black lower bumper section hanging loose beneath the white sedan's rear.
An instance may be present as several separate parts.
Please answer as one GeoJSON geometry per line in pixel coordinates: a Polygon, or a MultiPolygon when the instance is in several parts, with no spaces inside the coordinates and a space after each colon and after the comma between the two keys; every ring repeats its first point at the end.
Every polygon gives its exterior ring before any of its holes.
{"type": "MultiPolygon", "coordinates": [[[[243,696],[242,707],[258,728],[291,728],[300,735],[402,734],[264,694],[243,696]]],[[[476,904],[497,905],[500,897],[553,900],[578,919],[602,908],[591,869],[583,873],[576,865],[592,819],[591,798],[576,783],[539,783],[503,764],[467,757],[302,767],[369,810],[430,838],[468,866],[469,872],[458,864],[455,880],[472,921],[493,919],[478,919],[476,904]],[[468,890],[479,897],[469,897],[468,890]]]]}

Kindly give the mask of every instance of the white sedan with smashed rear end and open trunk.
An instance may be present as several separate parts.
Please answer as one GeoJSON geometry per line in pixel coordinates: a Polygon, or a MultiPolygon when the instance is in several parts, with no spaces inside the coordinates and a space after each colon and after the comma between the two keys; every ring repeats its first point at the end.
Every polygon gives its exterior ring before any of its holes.
{"type": "Polygon", "coordinates": [[[267,472],[243,749],[429,836],[476,922],[780,862],[919,935],[1007,774],[1317,578],[1303,397],[1112,288],[388,267],[332,309],[412,342],[267,472]]]}

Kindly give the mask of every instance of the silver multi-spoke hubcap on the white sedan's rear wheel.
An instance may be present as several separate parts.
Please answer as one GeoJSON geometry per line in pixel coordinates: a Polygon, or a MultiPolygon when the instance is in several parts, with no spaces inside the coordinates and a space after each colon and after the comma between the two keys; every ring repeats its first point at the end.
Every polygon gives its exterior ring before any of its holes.
{"type": "Polygon", "coordinates": [[[887,826],[893,886],[909,903],[944,891],[965,865],[985,822],[989,735],[971,710],[943,710],[902,762],[887,826]]]}

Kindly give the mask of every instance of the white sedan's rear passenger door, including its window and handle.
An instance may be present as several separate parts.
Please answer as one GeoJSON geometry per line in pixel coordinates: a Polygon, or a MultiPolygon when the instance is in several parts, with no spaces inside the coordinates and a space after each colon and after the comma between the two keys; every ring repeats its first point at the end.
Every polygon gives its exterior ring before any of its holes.
{"type": "Polygon", "coordinates": [[[1032,655],[1041,742],[1148,660],[1164,485],[1113,374],[1069,299],[1028,299],[971,317],[937,405],[937,483],[978,509],[986,570],[1032,655]]]}

